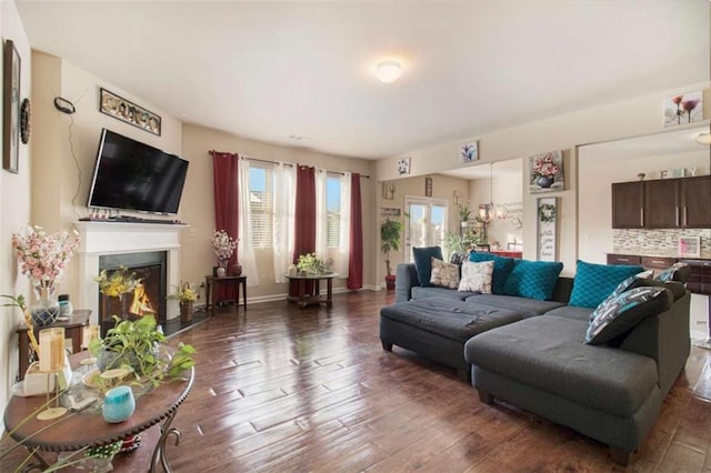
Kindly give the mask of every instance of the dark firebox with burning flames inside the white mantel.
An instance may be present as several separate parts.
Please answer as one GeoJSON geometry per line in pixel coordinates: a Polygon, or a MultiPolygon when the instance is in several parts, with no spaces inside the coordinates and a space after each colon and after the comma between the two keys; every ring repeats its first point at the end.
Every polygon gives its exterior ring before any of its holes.
{"type": "Polygon", "coordinates": [[[128,273],[140,281],[133,292],[124,294],[120,300],[99,293],[99,324],[102,332],[106,328],[113,326],[113,314],[131,319],[152,314],[160,325],[166,324],[166,263],[164,251],[99,256],[99,271],[106,270],[109,278],[121,268],[127,268],[128,273]]]}

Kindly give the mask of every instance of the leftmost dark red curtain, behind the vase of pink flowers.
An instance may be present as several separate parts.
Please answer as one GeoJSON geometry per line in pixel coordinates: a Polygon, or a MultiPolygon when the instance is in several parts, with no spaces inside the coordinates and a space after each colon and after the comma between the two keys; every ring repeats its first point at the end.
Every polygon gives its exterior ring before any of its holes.
{"type": "MultiPolygon", "coordinates": [[[[224,230],[234,240],[239,238],[239,157],[236,153],[210,151],[212,155],[212,181],[214,183],[214,230],[224,230]]],[[[216,256],[217,263],[217,256],[216,256]]],[[[237,249],[230,258],[229,268],[237,263],[237,249]]],[[[219,299],[237,301],[231,284],[220,284],[219,299]]],[[[214,303],[214,301],[212,301],[214,303]]]]}

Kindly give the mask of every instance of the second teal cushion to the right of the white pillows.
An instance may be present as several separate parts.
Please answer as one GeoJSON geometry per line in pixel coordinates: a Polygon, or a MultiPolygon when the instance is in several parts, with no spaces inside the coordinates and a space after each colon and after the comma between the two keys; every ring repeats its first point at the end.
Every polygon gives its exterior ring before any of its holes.
{"type": "Polygon", "coordinates": [[[515,260],[503,284],[503,294],[549,300],[562,270],[563,263],[560,262],[515,260]]]}

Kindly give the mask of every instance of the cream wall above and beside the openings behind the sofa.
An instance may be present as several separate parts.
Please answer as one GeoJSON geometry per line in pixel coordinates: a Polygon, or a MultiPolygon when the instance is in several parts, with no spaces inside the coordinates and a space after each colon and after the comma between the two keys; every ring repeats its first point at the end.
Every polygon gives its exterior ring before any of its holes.
{"type": "MultiPolygon", "coordinates": [[[[397,157],[377,161],[377,174],[380,180],[397,179],[397,161],[411,158],[411,173],[425,175],[461,167],[460,147],[474,139],[479,140],[480,163],[527,158],[540,152],[563,150],[565,164],[565,191],[552,192],[545,197],[561,198],[559,217],[559,259],[564,263],[563,274],[572,274],[578,256],[578,188],[579,179],[575,147],[587,143],[610,141],[620,138],[638,137],[663,131],[662,99],[690,90],[703,90],[704,117],[709,117],[709,85],[701,82],[681,85],[673,90],[660,90],[658,93],[631,98],[592,109],[575,111],[485,133],[480,137],[443,143],[440,145],[412,150],[397,157]]],[[[697,123],[698,125],[698,123],[697,123]]],[[[524,160],[522,189],[528,189],[528,162],[524,160]]],[[[580,178],[583,179],[583,178],[580,178]]],[[[523,192],[523,256],[535,259],[535,205],[542,194],[523,192]]]]}

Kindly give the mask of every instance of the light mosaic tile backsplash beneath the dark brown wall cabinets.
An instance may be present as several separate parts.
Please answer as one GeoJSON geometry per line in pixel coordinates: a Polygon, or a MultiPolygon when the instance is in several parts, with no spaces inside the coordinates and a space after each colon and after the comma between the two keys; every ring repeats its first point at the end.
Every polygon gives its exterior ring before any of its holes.
{"type": "Polygon", "coordinates": [[[678,256],[679,236],[700,236],[701,256],[711,259],[711,229],[613,230],[615,253],[678,256]]]}

